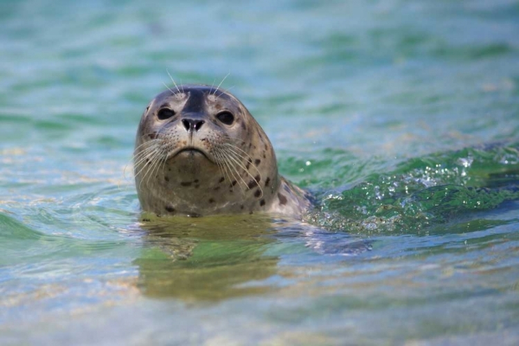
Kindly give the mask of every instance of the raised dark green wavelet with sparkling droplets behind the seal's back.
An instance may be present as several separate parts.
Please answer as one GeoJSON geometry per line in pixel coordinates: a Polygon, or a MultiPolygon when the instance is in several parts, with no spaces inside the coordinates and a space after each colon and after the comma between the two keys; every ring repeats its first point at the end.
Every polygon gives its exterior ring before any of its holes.
{"type": "Polygon", "coordinates": [[[354,188],[320,192],[320,205],[309,220],[370,235],[415,234],[453,218],[470,218],[519,198],[518,157],[517,145],[496,145],[412,158],[354,188]]]}

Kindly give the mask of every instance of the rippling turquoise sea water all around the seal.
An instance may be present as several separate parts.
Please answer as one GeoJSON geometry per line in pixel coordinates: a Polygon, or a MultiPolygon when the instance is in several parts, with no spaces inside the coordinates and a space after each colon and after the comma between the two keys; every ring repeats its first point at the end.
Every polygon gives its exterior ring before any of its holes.
{"type": "Polygon", "coordinates": [[[2,1],[0,343],[519,343],[516,1],[2,1]],[[147,102],[218,83],[303,223],[140,223],[147,102]]]}

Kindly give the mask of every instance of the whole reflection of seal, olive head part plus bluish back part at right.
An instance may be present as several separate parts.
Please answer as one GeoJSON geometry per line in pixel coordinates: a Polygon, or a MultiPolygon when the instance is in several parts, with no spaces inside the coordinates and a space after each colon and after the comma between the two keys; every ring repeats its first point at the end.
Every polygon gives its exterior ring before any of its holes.
{"type": "Polygon", "coordinates": [[[146,250],[134,263],[139,288],[153,298],[214,301],[275,291],[293,275],[286,267],[280,273],[281,255],[343,257],[372,248],[361,237],[266,215],[145,219],[146,250]]]}

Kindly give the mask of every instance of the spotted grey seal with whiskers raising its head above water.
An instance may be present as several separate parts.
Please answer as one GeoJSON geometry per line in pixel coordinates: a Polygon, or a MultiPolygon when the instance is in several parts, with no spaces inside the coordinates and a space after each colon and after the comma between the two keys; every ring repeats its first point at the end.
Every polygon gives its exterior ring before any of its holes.
{"type": "Polygon", "coordinates": [[[234,95],[206,85],[158,94],[137,130],[140,206],[156,215],[266,212],[300,219],[310,196],[277,171],[270,140],[234,95]]]}

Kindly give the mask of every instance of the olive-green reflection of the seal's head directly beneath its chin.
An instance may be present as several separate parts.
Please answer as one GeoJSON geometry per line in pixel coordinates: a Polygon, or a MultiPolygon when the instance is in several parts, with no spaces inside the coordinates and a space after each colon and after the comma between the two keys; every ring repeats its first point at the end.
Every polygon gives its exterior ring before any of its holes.
{"type": "Polygon", "coordinates": [[[142,227],[147,251],[135,264],[149,297],[211,301],[273,289],[254,284],[277,271],[277,256],[265,254],[275,241],[268,217],[150,217],[142,227]]]}

